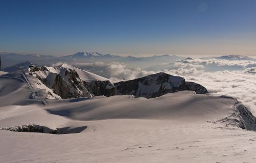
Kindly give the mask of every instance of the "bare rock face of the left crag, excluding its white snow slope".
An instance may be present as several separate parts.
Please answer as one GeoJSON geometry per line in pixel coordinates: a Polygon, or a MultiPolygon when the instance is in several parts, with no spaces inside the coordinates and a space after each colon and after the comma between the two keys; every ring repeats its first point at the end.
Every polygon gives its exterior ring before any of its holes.
{"type": "Polygon", "coordinates": [[[37,77],[61,98],[115,95],[115,86],[109,80],[84,81],[75,69],[63,67],[49,67],[48,69],[47,67],[32,67],[29,69],[29,74],[37,77]],[[50,72],[48,69],[53,70],[50,72]]]}

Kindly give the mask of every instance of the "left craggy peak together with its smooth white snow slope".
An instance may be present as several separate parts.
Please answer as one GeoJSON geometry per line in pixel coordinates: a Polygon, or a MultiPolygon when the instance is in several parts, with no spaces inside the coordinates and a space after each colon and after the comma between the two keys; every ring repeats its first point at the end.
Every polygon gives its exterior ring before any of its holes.
{"type": "MultiPolygon", "coordinates": [[[[112,95],[111,89],[114,89],[109,79],[67,64],[56,67],[31,67],[28,74],[39,79],[42,85],[62,98],[95,96],[101,92],[96,88],[103,89],[106,95],[112,95]]],[[[34,86],[40,88],[40,85],[34,86]]],[[[54,94],[50,95],[55,96],[54,94]]]]}

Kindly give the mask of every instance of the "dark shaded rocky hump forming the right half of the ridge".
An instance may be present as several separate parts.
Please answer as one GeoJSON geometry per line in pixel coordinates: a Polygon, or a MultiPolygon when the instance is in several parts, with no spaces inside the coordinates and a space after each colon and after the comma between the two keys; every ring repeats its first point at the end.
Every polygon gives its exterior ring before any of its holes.
{"type": "Polygon", "coordinates": [[[208,93],[203,86],[185,82],[180,76],[173,76],[163,72],[148,75],[145,77],[119,82],[114,84],[117,95],[134,95],[136,97],[154,98],[162,96],[166,93],[177,91],[195,91],[197,94],[208,93]]]}

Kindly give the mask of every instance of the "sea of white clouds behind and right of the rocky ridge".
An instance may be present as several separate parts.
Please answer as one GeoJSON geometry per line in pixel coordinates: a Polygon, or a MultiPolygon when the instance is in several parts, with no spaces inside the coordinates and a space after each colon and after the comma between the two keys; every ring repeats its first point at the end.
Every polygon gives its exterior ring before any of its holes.
{"type": "MultiPolygon", "coordinates": [[[[130,80],[146,75],[165,72],[179,75],[186,81],[195,82],[206,87],[216,95],[227,95],[242,101],[256,115],[256,62],[229,60],[183,60],[169,64],[165,69],[143,70],[128,68],[122,63],[104,64],[73,63],[74,66],[98,75],[110,78],[114,82],[130,80]]],[[[138,65],[139,66],[139,65],[138,65]]]]}

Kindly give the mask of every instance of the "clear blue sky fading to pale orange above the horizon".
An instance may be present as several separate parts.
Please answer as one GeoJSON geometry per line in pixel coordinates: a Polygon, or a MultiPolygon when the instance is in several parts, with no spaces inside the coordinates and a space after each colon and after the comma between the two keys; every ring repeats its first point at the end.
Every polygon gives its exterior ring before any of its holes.
{"type": "Polygon", "coordinates": [[[256,1],[0,0],[0,51],[256,55],[256,1]]]}

